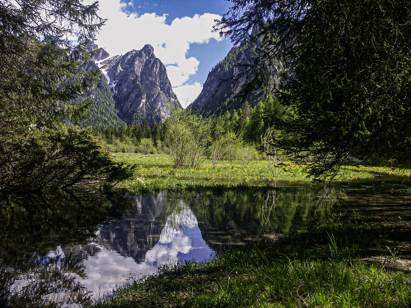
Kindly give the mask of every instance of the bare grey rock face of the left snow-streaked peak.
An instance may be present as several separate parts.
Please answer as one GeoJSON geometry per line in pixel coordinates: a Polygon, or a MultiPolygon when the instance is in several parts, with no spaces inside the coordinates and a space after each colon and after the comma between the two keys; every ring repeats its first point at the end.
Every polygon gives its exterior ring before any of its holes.
{"type": "MultiPolygon", "coordinates": [[[[97,48],[96,48],[97,49],[97,48]]],[[[166,68],[145,45],[125,55],[109,57],[102,48],[94,60],[102,67],[113,93],[118,116],[127,124],[163,123],[174,108],[181,108],[171,89],[166,68]]]]}

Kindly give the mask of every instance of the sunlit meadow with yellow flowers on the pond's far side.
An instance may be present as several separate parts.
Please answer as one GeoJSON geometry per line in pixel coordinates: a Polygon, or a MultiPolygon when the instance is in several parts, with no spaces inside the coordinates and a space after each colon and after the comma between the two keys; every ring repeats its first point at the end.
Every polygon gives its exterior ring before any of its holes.
{"type": "MultiPolygon", "coordinates": [[[[137,191],[164,190],[176,187],[215,186],[222,184],[235,186],[239,183],[251,186],[260,185],[261,181],[309,182],[307,174],[295,163],[285,162],[279,176],[273,177],[268,167],[268,161],[250,161],[244,167],[240,161],[219,161],[216,168],[212,168],[210,160],[206,160],[198,168],[173,168],[171,156],[166,154],[113,154],[116,161],[124,161],[137,165],[134,176],[119,183],[119,187],[132,188],[137,191]]],[[[355,178],[370,178],[369,166],[360,170],[357,166],[347,166],[343,177],[339,180],[349,181],[355,178]]],[[[381,171],[381,169],[378,169],[381,171]]]]}

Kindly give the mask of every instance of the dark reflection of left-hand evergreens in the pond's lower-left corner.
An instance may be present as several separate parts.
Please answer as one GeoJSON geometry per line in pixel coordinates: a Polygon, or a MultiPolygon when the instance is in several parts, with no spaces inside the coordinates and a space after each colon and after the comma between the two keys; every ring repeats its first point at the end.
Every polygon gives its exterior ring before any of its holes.
{"type": "Polygon", "coordinates": [[[0,303],[55,307],[90,303],[82,261],[102,221],[132,209],[130,198],[108,193],[8,196],[1,203],[0,303]]]}

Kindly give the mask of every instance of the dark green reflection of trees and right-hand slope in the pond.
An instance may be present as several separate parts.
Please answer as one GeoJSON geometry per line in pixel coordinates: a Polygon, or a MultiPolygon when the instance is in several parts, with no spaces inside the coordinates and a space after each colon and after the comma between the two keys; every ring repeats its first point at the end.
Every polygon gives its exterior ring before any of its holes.
{"type": "Polygon", "coordinates": [[[189,198],[203,239],[216,251],[281,234],[320,219],[344,200],[340,188],[299,185],[255,191],[229,191],[207,198],[189,198]]]}

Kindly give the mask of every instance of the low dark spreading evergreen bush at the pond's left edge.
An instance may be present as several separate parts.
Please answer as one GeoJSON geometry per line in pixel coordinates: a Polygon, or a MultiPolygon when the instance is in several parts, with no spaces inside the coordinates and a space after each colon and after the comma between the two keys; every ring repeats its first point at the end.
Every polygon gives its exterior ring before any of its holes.
{"type": "Polygon", "coordinates": [[[73,185],[114,185],[130,177],[133,168],[112,161],[91,128],[31,129],[2,139],[0,191],[36,193],[73,185]]]}

